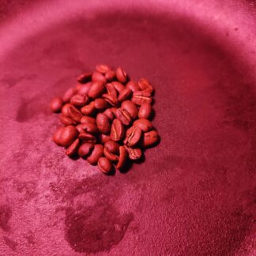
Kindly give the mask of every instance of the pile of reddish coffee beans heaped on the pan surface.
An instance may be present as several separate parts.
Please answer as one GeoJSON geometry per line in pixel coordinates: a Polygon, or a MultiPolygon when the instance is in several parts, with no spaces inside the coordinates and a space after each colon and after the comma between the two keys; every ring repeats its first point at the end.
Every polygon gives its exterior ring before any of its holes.
{"type": "Polygon", "coordinates": [[[156,145],[160,137],[153,128],[150,82],[130,80],[121,67],[100,64],[92,73],[77,77],[77,85],[51,100],[64,126],[53,141],[67,156],[81,156],[105,174],[139,160],[142,149],[156,145]],[[115,165],[115,168],[114,168],[115,165]]]}

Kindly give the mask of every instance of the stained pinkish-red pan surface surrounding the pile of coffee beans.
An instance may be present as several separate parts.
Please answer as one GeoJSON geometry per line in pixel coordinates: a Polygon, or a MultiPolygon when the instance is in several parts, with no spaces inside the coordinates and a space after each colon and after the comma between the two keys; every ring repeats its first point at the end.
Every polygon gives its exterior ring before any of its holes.
{"type": "Polygon", "coordinates": [[[255,255],[251,1],[3,1],[0,255],[255,255]],[[48,104],[99,62],[156,87],[160,145],[105,176],[48,104]]]}

